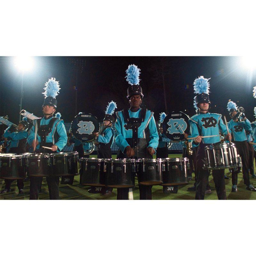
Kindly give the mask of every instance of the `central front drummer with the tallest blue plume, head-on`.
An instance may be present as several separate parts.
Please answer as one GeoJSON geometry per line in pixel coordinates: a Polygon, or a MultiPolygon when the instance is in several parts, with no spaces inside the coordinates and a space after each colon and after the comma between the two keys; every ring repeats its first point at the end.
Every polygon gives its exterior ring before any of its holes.
{"type": "MultiPolygon", "coordinates": [[[[116,112],[115,142],[119,147],[117,158],[153,158],[158,146],[158,132],[154,113],[141,109],[143,93],[140,87],[140,69],[129,65],[126,70],[126,81],[131,84],[127,90],[129,109],[116,112]]],[[[139,184],[140,200],[152,199],[152,186],[139,184]]],[[[129,188],[117,188],[117,199],[128,199],[129,188]]]]}

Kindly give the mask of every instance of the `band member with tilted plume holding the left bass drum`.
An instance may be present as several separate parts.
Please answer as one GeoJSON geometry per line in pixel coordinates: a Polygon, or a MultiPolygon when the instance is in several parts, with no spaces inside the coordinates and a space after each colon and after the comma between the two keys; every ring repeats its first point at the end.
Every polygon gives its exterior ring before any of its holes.
{"type": "MultiPolygon", "coordinates": [[[[115,122],[115,117],[112,116],[114,114],[115,109],[117,108],[116,103],[112,100],[108,103],[107,109],[105,111],[105,117],[103,119],[104,129],[100,132],[94,132],[95,140],[99,143],[98,145],[98,155],[97,158],[112,158],[111,147],[114,142],[114,129],[112,128],[112,124],[115,122]]],[[[95,191],[95,187],[92,187],[92,191],[95,191]]],[[[100,193],[102,195],[111,194],[113,188],[101,188],[100,193]]],[[[89,190],[88,190],[89,191],[89,190]]],[[[99,191],[99,189],[98,189],[99,191]]],[[[91,192],[91,191],[89,191],[91,192]]],[[[92,193],[92,192],[91,192],[92,193]]]]}

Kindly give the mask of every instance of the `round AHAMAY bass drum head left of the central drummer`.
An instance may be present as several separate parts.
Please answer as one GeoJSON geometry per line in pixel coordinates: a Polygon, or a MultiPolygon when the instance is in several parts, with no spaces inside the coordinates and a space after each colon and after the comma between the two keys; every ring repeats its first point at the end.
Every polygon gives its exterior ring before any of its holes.
{"type": "Polygon", "coordinates": [[[94,140],[93,132],[99,132],[100,125],[92,114],[82,113],[77,115],[71,124],[71,131],[76,139],[82,142],[91,142],[94,140]]]}

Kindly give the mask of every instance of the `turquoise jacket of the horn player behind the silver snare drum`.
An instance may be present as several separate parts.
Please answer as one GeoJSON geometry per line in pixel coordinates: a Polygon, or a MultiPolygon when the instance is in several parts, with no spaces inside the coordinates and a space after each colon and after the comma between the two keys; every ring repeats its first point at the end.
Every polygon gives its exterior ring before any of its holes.
{"type": "Polygon", "coordinates": [[[242,122],[234,122],[231,119],[228,122],[228,129],[232,131],[232,140],[234,141],[247,141],[245,130],[252,132],[251,122],[247,118],[242,122]]]}

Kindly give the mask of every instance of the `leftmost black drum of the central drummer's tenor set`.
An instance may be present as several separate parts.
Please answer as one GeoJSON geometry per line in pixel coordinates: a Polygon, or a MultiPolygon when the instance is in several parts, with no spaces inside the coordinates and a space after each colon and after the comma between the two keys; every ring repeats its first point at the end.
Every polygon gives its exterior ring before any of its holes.
{"type": "Polygon", "coordinates": [[[105,187],[106,165],[104,159],[80,158],[80,184],[105,187]]]}

